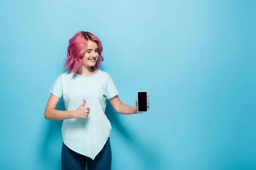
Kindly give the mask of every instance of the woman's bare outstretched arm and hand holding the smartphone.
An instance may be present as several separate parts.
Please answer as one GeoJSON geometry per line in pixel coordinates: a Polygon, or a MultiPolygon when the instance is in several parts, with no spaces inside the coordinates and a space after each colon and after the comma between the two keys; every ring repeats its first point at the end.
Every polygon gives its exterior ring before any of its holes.
{"type": "MultiPolygon", "coordinates": [[[[108,100],[110,104],[112,105],[114,111],[119,114],[135,114],[135,113],[143,113],[143,112],[138,112],[137,109],[137,100],[136,100],[136,107],[134,106],[128,106],[122,103],[119,99],[119,97],[116,95],[112,97],[111,99],[108,100]]],[[[149,99],[148,99],[149,101],[149,99]]],[[[149,105],[149,103],[148,103],[149,105]]],[[[149,109],[149,108],[148,108],[149,109]]]]}

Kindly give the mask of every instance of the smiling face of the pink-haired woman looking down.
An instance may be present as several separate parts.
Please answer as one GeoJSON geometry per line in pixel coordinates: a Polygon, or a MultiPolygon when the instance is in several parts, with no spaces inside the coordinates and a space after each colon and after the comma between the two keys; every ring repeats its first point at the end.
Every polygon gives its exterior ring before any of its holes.
{"type": "Polygon", "coordinates": [[[84,66],[93,67],[99,57],[98,44],[94,41],[89,40],[87,44],[87,50],[82,57],[84,66]]]}

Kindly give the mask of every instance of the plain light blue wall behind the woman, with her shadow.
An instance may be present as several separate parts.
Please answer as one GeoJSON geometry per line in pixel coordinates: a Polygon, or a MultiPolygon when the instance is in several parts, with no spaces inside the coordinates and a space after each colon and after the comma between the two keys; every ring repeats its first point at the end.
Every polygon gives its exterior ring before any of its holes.
{"type": "Polygon", "coordinates": [[[150,94],[139,115],[108,103],[113,170],[256,169],[255,16],[253,0],[2,1],[0,169],[61,168],[44,109],[77,31],[102,40],[122,102],[150,94]]]}

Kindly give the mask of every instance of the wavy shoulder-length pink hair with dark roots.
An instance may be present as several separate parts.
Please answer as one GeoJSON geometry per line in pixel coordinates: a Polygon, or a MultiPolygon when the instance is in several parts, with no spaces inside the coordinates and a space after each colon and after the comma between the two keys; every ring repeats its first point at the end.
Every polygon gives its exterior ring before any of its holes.
{"type": "Polygon", "coordinates": [[[99,49],[99,58],[97,59],[95,66],[92,68],[96,70],[99,69],[99,66],[102,66],[101,62],[104,60],[102,56],[102,42],[98,37],[90,32],[79,31],[72,38],[70,38],[69,45],[67,47],[67,57],[64,59],[65,64],[63,66],[68,72],[76,73],[76,71],[83,65],[81,57],[84,56],[87,50],[89,40],[96,42],[99,49]]]}

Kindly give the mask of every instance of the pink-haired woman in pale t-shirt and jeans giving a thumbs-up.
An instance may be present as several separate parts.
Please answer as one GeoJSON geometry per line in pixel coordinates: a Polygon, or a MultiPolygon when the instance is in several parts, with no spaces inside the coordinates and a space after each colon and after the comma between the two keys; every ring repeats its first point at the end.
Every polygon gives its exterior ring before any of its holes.
{"type": "Polygon", "coordinates": [[[77,32],[67,48],[67,72],[58,76],[50,90],[44,116],[63,120],[63,170],[85,170],[86,164],[88,170],[111,169],[112,128],[105,115],[106,99],[117,113],[139,113],[137,100],[135,107],[123,104],[111,76],[99,69],[102,51],[102,42],[95,35],[77,32]],[[56,110],[62,97],[66,111],[56,110]]]}

